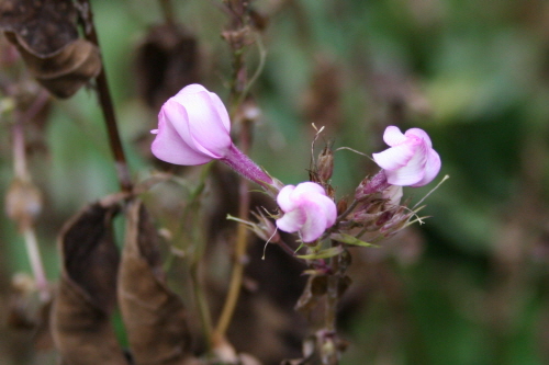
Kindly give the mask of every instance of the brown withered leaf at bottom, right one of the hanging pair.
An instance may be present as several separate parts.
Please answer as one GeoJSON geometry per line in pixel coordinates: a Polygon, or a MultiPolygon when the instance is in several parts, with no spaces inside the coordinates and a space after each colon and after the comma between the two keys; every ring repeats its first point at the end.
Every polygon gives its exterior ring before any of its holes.
{"type": "Polygon", "coordinates": [[[142,202],[128,206],[119,303],[136,365],[181,365],[190,335],[180,298],[164,278],[158,233],[142,202]]]}

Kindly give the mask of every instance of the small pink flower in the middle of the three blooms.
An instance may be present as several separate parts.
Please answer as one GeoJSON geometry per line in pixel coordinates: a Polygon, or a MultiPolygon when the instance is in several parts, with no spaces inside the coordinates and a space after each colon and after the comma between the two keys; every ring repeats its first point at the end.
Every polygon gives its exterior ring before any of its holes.
{"type": "Polygon", "coordinates": [[[336,205],[324,187],[313,182],[285,185],[277,196],[284,213],[277,227],[285,232],[300,232],[303,242],[312,242],[332,227],[337,217],[336,205]]]}

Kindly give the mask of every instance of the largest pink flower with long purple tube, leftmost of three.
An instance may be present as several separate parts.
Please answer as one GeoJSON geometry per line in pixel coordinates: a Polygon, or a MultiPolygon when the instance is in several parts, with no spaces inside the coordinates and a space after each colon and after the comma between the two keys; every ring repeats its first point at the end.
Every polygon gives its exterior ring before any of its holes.
{"type": "Polygon", "coordinates": [[[168,99],[158,114],[153,155],[175,164],[203,164],[221,160],[244,178],[267,190],[278,191],[261,168],[244,155],[231,139],[231,119],[221,99],[201,84],[184,87],[168,99]]]}

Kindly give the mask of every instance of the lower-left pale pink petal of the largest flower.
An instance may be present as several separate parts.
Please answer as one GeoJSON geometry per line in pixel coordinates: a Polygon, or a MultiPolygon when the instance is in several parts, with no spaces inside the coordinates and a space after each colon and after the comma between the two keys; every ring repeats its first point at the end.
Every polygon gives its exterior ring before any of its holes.
{"type": "Polygon", "coordinates": [[[212,159],[197,152],[179,135],[163,111],[158,115],[158,129],[150,147],[158,159],[176,164],[202,164],[212,159]]]}

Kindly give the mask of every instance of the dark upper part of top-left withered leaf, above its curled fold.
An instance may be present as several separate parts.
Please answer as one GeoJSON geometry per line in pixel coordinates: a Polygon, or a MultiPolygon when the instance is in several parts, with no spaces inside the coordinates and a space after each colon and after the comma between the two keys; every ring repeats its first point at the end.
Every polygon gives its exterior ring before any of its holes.
{"type": "Polygon", "coordinates": [[[0,0],[0,27],[31,54],[49,57],[78,38],[72,0],[0,0]]]}

